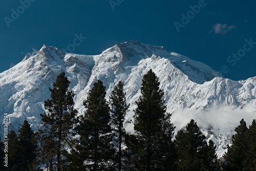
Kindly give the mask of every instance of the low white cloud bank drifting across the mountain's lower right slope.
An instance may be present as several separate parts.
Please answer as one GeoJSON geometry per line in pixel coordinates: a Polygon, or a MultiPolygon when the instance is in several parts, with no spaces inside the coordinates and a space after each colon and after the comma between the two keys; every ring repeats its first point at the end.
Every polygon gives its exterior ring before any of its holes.
{"type": "Polygon", "coordinates": [[[210,125],[219,129],[221,133],[230,134],[244,118],[247,126],[256,119],[254,106],[245,106],[243,109],[234,109],[234,106],[212,107],[209,111],[194,111],[191,109],[177,110],[173,113],[171,122],[176,126],[176,132],[194,119],[198,126],[207,128],[210,125]]]}

